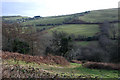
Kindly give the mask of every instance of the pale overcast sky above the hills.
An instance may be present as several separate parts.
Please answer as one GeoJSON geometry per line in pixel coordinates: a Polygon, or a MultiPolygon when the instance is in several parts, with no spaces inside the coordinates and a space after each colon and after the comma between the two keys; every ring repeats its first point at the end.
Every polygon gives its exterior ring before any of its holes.
{"type": "Polygon", "coordinates": [[[119,0],[2,0],[2,15],[57,16],[117,8],[119,0]]]}

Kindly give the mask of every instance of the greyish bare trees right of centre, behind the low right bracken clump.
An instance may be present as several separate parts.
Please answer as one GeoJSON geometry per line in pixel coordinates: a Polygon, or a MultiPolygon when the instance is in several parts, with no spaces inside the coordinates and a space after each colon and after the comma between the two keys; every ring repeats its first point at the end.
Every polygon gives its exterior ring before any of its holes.
{"type": "Polygon", "coordinates": [[[90,45],[87,47],[74,46],[74,48],[69,53],[69,59],[103,62],[104,51],[94,45],[90,45]]]}

